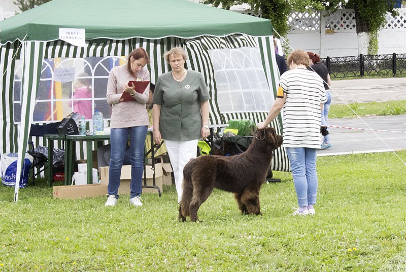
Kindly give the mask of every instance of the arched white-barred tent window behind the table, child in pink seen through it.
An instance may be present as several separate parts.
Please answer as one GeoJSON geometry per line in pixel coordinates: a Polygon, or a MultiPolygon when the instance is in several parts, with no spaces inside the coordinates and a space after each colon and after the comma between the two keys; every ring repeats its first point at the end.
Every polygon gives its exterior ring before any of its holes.
{"type": "MultiPolygon", "coordinates": [[[[103,113],[105,119],[110,119],[111,107],[106,100],[107,82],[111,69],[125,61],[123,56],[45,59],[34,108],[34,121],[60,121],[73,111],[85,115],[86,120],[91,120],[96,108],[103,113]],[[56,79],[56,68],[73,69],[74,75],[68,79],[56,79]],[[82,93],[82,96],[75,97],[76,90],[80,88],[77,85],[79,81],[84,81],[84,85],[91,87],[89,95],[82,93]],[[76,106],[77,102],[82,105],[76,106]]],[[[17,61],[14,75],[14,123],[21,122],[21,74],[22,62],[17,61]]]]}

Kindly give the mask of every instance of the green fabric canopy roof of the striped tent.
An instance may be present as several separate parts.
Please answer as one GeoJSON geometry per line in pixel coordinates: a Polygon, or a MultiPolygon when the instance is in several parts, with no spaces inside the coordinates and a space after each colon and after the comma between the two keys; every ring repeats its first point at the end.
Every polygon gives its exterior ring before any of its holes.
{"type": "Polygon", "coordinates": [[[85,28],[86,40],[272,35],[261,19],[187,0],[53,0],[0,22],[0,43],[54,41],[59,28],[85,28]]]}

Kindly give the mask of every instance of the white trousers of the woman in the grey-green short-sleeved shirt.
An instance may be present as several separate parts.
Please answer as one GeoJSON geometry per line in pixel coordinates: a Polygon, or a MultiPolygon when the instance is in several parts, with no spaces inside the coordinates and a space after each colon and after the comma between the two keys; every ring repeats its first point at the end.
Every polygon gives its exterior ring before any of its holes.
{"type": "Polygon", "coordinates": [[[198,140],[191,141],[170,141],[164,140],[174,170],[176,191],[178,192],[178,203],[182,199],[183,192],[183,168],[191,159],[197,155],[198,140]]]}

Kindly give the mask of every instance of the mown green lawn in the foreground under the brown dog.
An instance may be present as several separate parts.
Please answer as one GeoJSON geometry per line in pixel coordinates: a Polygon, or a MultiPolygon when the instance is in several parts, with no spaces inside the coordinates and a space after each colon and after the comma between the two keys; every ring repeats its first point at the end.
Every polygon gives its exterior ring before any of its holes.
{"type": "MultiPolygon", "coordinates": [[[[397,152],[406,160],[406,151],[397,152]]],[[[387,271],[406,270],[405,165],[393,153],[318,158],[316,215],[292,217],[290,173],[264,184],[263,216],[240,214],[215,190],[203,222],[179,222],[174,186],[130,207],[106,197],[52,198],[45,181],[0,186],[0,271],[387,271]]]]}

